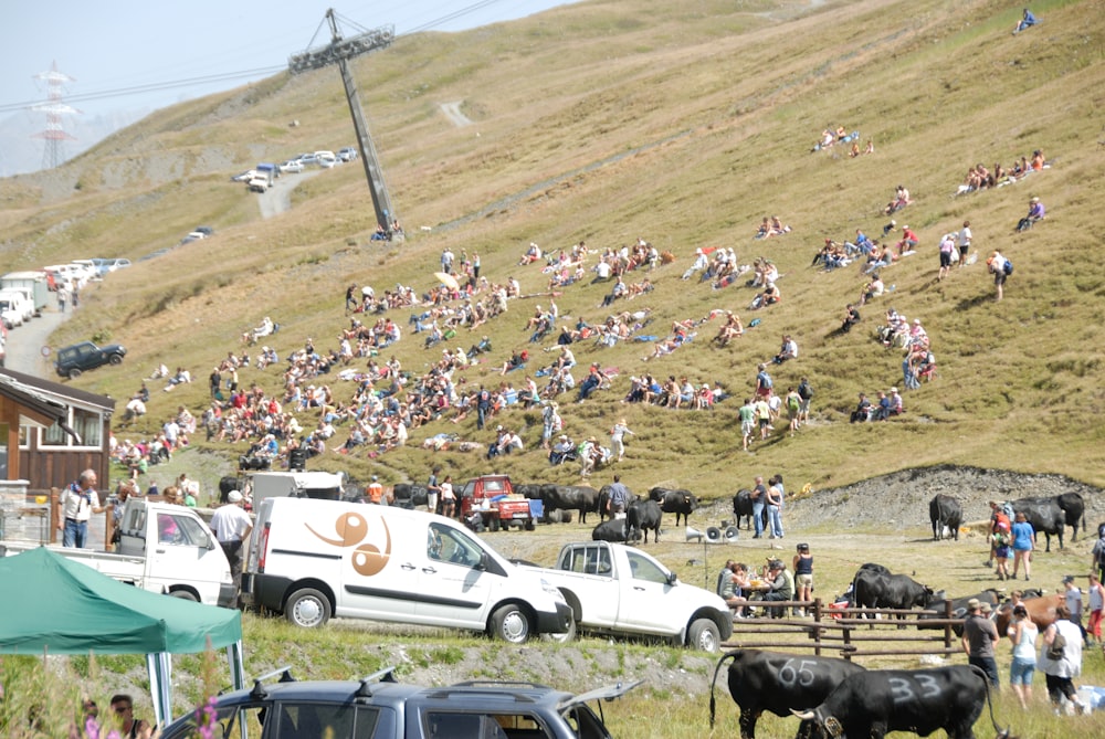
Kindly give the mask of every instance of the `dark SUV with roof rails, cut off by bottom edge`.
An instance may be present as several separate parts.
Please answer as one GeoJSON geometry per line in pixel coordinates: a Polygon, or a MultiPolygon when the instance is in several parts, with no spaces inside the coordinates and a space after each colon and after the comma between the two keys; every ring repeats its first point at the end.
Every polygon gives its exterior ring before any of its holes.
{"type": "MultiPolygon", "coordinates": [[[[295,682],[287,668],[276,671],[259,678],[252,689],[220,696],[212,733],[249,732],[257,739],[610,739],[601,701],[640,684],[618,684],[579,696],[534,683],[467,682],[424,688],[396,682],[393,671],[388,667],[359,682],[303,683],[295,682]],[[264,684],[276,675],[280,682],[264,684]],[[587,705],[590,701],[598,714],[587,705]]],[[[161,739],[197,736],[197,720],[196,714],[177,719],[161,739]]]]}

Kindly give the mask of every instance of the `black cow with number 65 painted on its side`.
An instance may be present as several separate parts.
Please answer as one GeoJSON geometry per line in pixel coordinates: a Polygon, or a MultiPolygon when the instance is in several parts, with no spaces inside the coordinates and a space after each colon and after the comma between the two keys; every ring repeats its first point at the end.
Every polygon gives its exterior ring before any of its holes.
{"type": "MultiPolygon", "coordinates": [[[[829,694],[861,665],[833,657],[796,656],[782,652],[736,650],[717,661],[709,686],[709,726],[714,728],[714,684],[726,659],[729,665],[729,695],[740,708],[740,737],[754,739],[756,721],[769,710],[776,716],[810,709],[824,703],[829,694]]],[[[808,736],[812,725],[803,721],[798,736],[808,736]]]]}

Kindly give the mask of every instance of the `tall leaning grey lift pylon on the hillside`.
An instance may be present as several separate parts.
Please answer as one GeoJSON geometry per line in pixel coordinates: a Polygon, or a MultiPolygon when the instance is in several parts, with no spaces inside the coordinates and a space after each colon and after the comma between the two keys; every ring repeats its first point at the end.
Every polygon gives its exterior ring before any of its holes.
{"type": "Polygon", "coordinates": [[[376,146],[372,144],[372,137],[368,133],[365,112],[361,109],[360,96],[357,94],[357,84],[352,78],[352,73],[349,71],[349,60],[376,51],[377,49],[390,46],[396,38],[394,27],[386,25],[365,31],[349,39],[343,39],[333,8],[326,11],[326,20],[330,25],[330,43],[313,51],[308,49],[302,54],[292,55],[288,59],[287,68],[292,74],[299,74],[309,70],[318,70],[330,64],[337,64],[338,71],[341,73],[341,83],[345,85],[346,99],[349,102],[352,126],[357,131],[357,149],[360,151],[360,160],[365,166],[368,189],[372,193],[376,221],[383,226],[389,237],[391,237],[393,235],[391,233],[391,223],[397,220],[396,211],[391,207],[391,198],[388,196],[388,186],[383,180],[383,170],[380,168],[376,146]]]}

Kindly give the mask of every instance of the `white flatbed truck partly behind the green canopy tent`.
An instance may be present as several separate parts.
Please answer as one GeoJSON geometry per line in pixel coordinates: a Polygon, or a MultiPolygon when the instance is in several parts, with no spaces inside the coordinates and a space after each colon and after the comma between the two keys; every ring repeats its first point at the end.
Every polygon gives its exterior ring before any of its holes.
{"type": "MultiPolygon", "coordinates": [[[[232,606],[236,600],[230,563],[203,519],[183,506],[130,498],[119,520],[118,553],[51,547],[122,582],[155,593],[232,606]]],[[[0,555],[18,555],[39,545],[0,543],[0,555]]]]}

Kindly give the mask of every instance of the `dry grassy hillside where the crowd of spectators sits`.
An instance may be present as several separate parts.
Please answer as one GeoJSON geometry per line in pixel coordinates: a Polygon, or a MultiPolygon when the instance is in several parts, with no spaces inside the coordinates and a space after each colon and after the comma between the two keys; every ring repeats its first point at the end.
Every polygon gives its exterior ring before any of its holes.
{"type": "MultiPolygon", "coordinates": [[[[338,75],[325,70],[161,110],[56,171],[0,181],[0,250],[11,268],[136,258],[198,223],[218,229],[215,239],[86,291],[85,307],[55,337],[57,345],[94,334],[125,342],[123,368],[80,380],[117,398],[158,361],[187,366],[199,381],[155,393],[148,430],[179,403],[202,409],[211,366],[265,315],[283,326],[282,356],[307,336],[336,347],[350,282],[425,291],[449,247],[478,252],[492,281],[513,275],[524,293],[536,293],[547,277],[516,266],[530,241],[549,250],[585,240],[601,250],[642,236],[677,257],[649,275],[651,295],[628,304],[653,309],[646,332],[662,336],[672,320],[713,308],[762,323],[719,350],[708,344],[714,321],[649,365],[641,358],[652,345],[577,349],[581,363],[621,374],[585,404],[562,399],[568,431],[601,437],[624,416],[638,433],[621,468],[631,486],[665,482],[715,495],[781,469],[792,485],[824,487],[938,462],[1062,472],[1102,485],[1102,9],[1099,0],[1035,4],[1042,24],[1013,36],[1019,8],[993,1],[591,1],[469,33],[403,38],[360,60],[355,74],[406,243],[368,242],[376,224],[359,166],[305,181],[292,211],[265,221],[228,181],[260,159],[354,141],[338,75]],[[441,113],[453,102],[473,125],[456,127],[441,113]],[[293,119],[299,125],[290,127],[293,119]],[[875,154],[811,154],[827,125],[859,130],[875,154]],[[1034,149],[1050,169],[951,197],[971,165],[1009,166],[1034,149]],[[919,234],[918,254],[884,272],[894,292],[865,308],[860,330],[831,336],[864,278],[854,266],[822,273],[810,261],[825,237],[856,228],[877,235],[898,183],[915,202],[895,218],[919,234]],[[1031,196],[1049,218],[1015,234],[1031,196]],[[753,240],[770,214],[793,231],[753,240]],[[981,260],[935,281],[938,239],[965,219],[982,260],[1000,247],[1017,265],[1001,303],[981,260]],[[732,246],[743,264],[774,260],[785,275],[782,304],[750,314],[754,292],[743,282],[713,291],[681,281],[705,246],[732,246]],[[906,418],[850,425],[859,391],[901,384],[901,356],[871,337],[890,305],[924,320],[939,378],[906,394],[906,418]],[[796,336],[801,357],[776,371],[776,386],[809,376],[813,423],[746,456],[735,412],[756,363],[778,350],[783,332],[796,336]],[[737,398],[713,413],[619,403],[630,374],[644,370],[717,380],[737,398]]],[[[600,321],[606,292],[572,286],[558,298],[561,314],[600,321]]],[[[523,346],[525,318],[540,302],[514,302],[486,326],[496,350],[460,373],[463,387],[499,381],[492,368],[523,346]]],[[[406,327],[410,312],[394,313],[406,327]]],[[[454,341],[467,347],[474,338],[462,331],[454,341]]],[[[394,350],[415,373],[440,355],[420,339],[404,337],[394,350]]],[[[544,359],[536,351],[528,369],[544,359]]],[[[280,370],[242,380],[277,392],[280,370]]],[[[340,399],[351,392],[332,386],[340,399]]],[[[537,444],[538,413],[512,410],[503,422],[537,444]]],[[[412,447],[439,432],[492,436],[474,419],[442,422],[412,434],[412,447]]],[[[418,448],[377,460],[333,455],[318,466],[398,482],[423,478],[434,463],[460,477],[485,468],[475,455],[418,448]]],[[[540,453],[495,466],[519,478],[568,481],[576,472],[550,473],[540,453]]]]}

